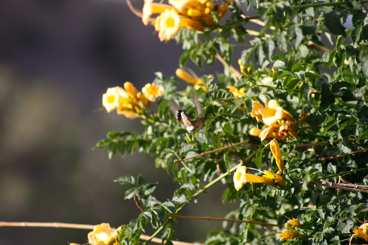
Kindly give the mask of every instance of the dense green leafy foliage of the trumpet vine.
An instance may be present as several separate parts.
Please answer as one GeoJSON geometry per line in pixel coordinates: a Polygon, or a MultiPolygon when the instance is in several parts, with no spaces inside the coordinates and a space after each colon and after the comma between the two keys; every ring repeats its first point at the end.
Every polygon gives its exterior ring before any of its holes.
{"type": "MultiPolygon", "coordinates": [[[[215,79],[202,78],[207,90],[194,90],[188,85],[184,91],[177,91],[176,79],[158,73],[155,82],[166,92],[158,99],[157,112],[142,121],[145,130],[111,131],[96,144],[95,149],[107,148],[109,158],[136,150],[153,155],[155,166],[181,184],[171,198],[159,201],[154,197],[159,182],[145,183],[141,175],[137,179],[117,179],[130,186],[124,198],[135,197],[144,210],[125,225],[121,244],[140,244],[139,235],[145,233],[148,223],[157,230],[155,235],[160,233],[170,244],[174,218],[167,215],[177,215],[218,181],[227,186],[223,193],[225,205],[240,204],[226,218],[283,225],[288,221],[281,216],[285,215],[301,224],[301,228],[290,228],[298,236],[286,240],[286,244],[347,244],[351,230],[367,222],[367,191],[353,185],[348,189],[330,187],[342,187],[344,179],[361,185],[368,182],[368,17],[362,9],[367,10],[364,0],[234,1],[229,3],[226,21],[207,26],[205,33],[182,28],[175,37],[184,50],[180,67],[189,61],[199,69],[205,63],[213,66],[219,55],[227,64],[232,64],[233,58],[241,59],[243,73],[236,76],[224,65],[224,71],[218,71],[215,79]],[[251,5],[257,15],[246,17],[242,7],[251,5]],[[352,29],[346,24],[349,17],[352,29]],[[248,29],[253,19],[262,20],[264,26],[257,31],[248,29]],[[323,48],[326,42],[332,44],[332,50],[323,48]],[[234,46],[244,50],[234,53],[234,46]],[[267,77],[270,82],[263,84],[262,79],[267,77]],[[229,85],[244,87],[244,94],[237,97],[229,91],[229,85]],[[252,128],[266,127],[251,116],[256,102],[267,106],[273,99],[289,112],[298,127],[297,138],[287,135],[286,140],[278,140],[286,169],[279,174],[286,184],[273,187],[246,183],[236,191],[232,175],[240,161],[249,173],[260,176],[250,168],[274,173],[278,170],[268,138],[261,141],[249,134],[252,128]],[[195,100],[203,109],[201,115],[196,115],[195,100]],[[171,103],[191,118],[210,119],[202,129],[187,133],[175,119],[171,103]],[[300,120],[303,112],[307,114],[304,123],[300,120]],[[246,140],[249,142],[241,143],[246,140]],[[362,151],[355,152],[358,150],[362,151]],[[190,159],[176,161],[184,158],[190,159]]],[[[285,230],[269,227],[266,231],[258,224],[227,222],[211,231],[203,242],[274,244],[279,239],[262,238],[285,230]]]]}

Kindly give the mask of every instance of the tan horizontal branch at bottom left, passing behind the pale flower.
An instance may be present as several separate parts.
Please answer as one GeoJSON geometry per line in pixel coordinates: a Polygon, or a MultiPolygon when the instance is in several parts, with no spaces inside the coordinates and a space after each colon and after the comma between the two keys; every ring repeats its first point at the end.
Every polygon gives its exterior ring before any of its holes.
{"type": "MultiPolygon", "coordinates": [[[[5,222],[0,221],[0,227],[53,227],[53,228],[73,228],[73,229],[86,229],[93,230],[95,226],[90,224],[70,224],[70,223],[44,223],[44,222],[5,222]]],[[[113,229],[114,230],[114,229],[113,229]]],[[[139,237],[142,240],[148,240],[150,237],[148,235],[141,235],[139,237]]],[[[162,239],[153,238],[152,242],[161,243],[162,239]]],[[[174,245],[201,245],[198,243],[171,241],[174,245]]]]}

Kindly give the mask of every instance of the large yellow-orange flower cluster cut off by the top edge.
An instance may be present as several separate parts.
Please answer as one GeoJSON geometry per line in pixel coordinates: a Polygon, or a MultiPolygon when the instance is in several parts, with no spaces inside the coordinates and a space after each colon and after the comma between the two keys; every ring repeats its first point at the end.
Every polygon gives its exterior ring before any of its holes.
{"type": "Polygon", "coordinates": [[[160,40],[163,41],[170,40],[180,28],[203,32],[205,25],[215,25],[211,17],[212,11],[216,11],[217,17],[221,18],[227,9],[228,3],[217,6],[210,0],[169,0],[169,4],[145,0],[142,21],[148,25],[152,14],[160,14],[152,23],[159,32],[160,40]]]}

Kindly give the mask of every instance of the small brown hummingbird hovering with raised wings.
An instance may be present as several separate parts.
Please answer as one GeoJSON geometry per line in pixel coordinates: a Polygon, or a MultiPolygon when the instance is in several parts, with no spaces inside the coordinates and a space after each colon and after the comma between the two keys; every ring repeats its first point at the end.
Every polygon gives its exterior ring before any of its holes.
{"type": "MultiPolygon", "coordinates": [[[[205,125],[206,120],[210,119],[205,118],[204,116],[199,116],[201,115],[201,105],[199,104],[197,97],[194,97],[194,102],[195,108],[197,110],[197,118],[195,119],[190,119],[190,117],[182,109],[177,109],[175,111],[175,118],[179,122],[183,123],[185,129],[189,133],[193,133],[193,131],[201,129],[205,125]]],[[[175,106],[177,107],[177,105],[175,106]]]]}

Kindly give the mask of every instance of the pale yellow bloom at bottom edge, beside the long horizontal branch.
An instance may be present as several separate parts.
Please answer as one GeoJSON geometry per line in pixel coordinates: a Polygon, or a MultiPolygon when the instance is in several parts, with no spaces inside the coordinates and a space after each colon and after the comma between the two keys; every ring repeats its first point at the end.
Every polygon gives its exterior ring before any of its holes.
{"type": "Polygon", "coordinates": [[[108,223],[102,223],[95,226],[93,231],[88,233],[88,243],[92,245],[111,245],[118,238],[118,231],[110,227],[108,223]]]}

